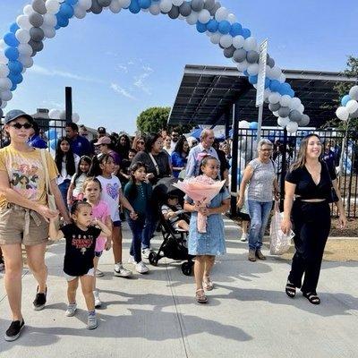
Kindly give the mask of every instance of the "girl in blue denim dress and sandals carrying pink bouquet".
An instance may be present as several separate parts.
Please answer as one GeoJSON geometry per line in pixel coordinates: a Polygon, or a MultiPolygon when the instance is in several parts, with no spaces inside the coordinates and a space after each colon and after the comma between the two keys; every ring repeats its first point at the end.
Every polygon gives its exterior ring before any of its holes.
{"type": "MultiPolygon", "coordinates": [[[[214,181],[217,180],[219,171],[220,164],[217,158],[207,156],[202,159],[200,172],[203,183],[215,183],[214,181]]],[[[196,256],[194,276],[196,284],[195,297],[198,303],[208,302],[204,290],[210,291],[213,289],[210,271],[214,265],[215,256],[226,253],[224,221],[221,214],[226,212],[229,205],[230,194],[225,187],[217,193],[208,206],[203,205],[200,201],[193,201],[189,196],[185,197],[184,209],[192,213],[188,249],[190,255],[196,256]],[[206,230],[198,230],[198,214],[207,217],[206,230]]]]}

